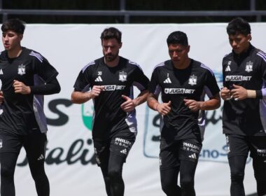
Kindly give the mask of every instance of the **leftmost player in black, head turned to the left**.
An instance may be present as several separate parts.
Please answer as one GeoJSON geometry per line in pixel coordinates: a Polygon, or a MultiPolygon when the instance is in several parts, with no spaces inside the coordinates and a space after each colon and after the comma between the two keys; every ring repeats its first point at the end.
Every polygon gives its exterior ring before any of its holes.
{"type": "MultiPolygon", "coordinates": [[[[47,124],[43,95],[60,91],[58,72],[40,53],[22,47],[25,23],[10,19],[1,26],[5,50],[0,55],[1,196],[14,196],[15,165],[24,146],[38,196],[48,196],[44,170],[47,124]]],[[[25,193],[24,195],[27,195],[25,193]]]]}

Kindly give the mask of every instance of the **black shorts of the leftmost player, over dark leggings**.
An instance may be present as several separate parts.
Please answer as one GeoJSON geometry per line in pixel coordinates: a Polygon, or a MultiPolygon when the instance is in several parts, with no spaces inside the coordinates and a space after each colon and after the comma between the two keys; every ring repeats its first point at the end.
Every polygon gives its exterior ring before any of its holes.
{"type": "Polygon", "coordinates": [[[0,153],[19,154],[24,146],[26,153],[29,150],[36,152],[36,155],[45,155],[46,143],[46,134],[39,130],[34,130],[30,134],[10,134],[0,130],[0,153]]]}

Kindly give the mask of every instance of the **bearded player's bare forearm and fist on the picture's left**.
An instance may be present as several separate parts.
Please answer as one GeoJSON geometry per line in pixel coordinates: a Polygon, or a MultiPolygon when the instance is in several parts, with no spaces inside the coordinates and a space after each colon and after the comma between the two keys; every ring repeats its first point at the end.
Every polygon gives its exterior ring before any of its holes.
{"type": "Polygon", "coordinates": [[[71,94],[71,102],[73,104],[83,104],[90,99],[98,97],[102,90],[104,90],[104,87],[99,85],[94,85],[89,92],[79,92],[74,90],[71,94]]]}

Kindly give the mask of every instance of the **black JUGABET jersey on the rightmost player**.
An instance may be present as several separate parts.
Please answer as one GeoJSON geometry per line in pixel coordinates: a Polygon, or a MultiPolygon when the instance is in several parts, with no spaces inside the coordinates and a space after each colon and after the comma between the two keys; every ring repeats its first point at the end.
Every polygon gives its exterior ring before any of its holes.
{"type": "Polygon", "coordinates": [[[223,133],[265,136],[266,130],[266,55],[250,45],[241,55],[231,52],[223,58],[223,85],[240,85],[256,90],[256,99],[235,101],[223,106],[223,133]]]}

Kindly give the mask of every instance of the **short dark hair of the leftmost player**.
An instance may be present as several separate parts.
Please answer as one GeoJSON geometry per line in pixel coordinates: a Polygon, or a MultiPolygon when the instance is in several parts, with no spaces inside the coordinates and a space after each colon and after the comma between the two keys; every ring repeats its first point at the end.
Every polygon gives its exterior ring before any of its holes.
{"type": "Polygon", "coordinates": [[[18,18],[13,18],[3,22],[1,30],[6,31],[15,31],[17,34],[24,34],[26,23],[18,18]]]}

